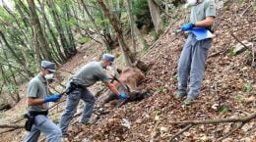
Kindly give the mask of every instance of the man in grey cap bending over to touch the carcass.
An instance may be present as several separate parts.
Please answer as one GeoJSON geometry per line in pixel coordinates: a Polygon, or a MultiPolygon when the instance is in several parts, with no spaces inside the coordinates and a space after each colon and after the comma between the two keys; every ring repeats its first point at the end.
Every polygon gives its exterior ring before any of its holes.
{"type": "Polygon", "coordinates": [[[118,92],[117,88],[110,83],[108,76],[103,70],[106,70],[114,62],[114,56],[111,54],[104,54],[100,62],[91,62],[84,66],[81,70],[75,73],[67,83],[67,102],[65,111],[60,118],[60,128],[62,136],[67,137],[67,129],[70,120],[76,113],[80,99],[85,102],[84,110],[80,123],[90,124],[90,118],[94,111],[95,96],[89,91],[88,87],[101,80],[107,88],[120,99],[127,99],[127,95],[118,92]]]}

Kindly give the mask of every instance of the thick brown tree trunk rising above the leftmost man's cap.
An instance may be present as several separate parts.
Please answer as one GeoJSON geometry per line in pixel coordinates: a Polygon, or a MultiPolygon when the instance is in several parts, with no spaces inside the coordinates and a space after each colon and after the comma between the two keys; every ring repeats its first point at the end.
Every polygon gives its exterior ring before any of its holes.
{"type": "Polygon", "coordinates": [[[35,43],[38,43],[36,46],[38,47],[39,52],[42,52],[42,55],[46,60],[52,61],[52,56],[51,56],[51,53],[49,50],[49,46],[46,42],[45,37],[43,36],[43,31],[42,31],[38,16],[35,11],[34,2],[33,2],[33,0],[27,0],[27,1],[28,1],[30,10],[31,10],[30,14],[31,14],[31,19],[32,19],[33,33],[35,33],[36,37],[37,37],[35,40],[38,39],[38,42],[35,42],[35,43]]]}

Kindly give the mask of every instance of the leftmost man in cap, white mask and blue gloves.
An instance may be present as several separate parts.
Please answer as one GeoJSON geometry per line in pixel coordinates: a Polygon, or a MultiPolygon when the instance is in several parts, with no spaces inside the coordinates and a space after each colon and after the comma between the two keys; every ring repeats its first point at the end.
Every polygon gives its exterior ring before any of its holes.
{"type": "Polygon", "coordinates": [[[48,142],[61,141],[60,128],[47,118],[49,102],[56,102],[61,98],[61,95],[57,94],[48,96],[50,92],[47,82],[53,78],[54,72],[54,63],[42,61],[40,73],[33,77],[29,83],[27,103],[31,127],[26,128],[30,132],[25,137],[24,142],[36,142],[40,133],[46,136],[48,142]]]}

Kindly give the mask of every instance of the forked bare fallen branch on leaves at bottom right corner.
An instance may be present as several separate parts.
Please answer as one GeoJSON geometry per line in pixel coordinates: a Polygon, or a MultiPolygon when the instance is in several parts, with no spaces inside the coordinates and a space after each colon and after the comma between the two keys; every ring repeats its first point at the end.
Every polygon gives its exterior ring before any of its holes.
{"type": "Polygon", "coordinates": [[[215,123],[224,123],[224,122],[241,122],[234,130],[227,133],[224,137],[220,138],[223,140],[224,138],[231,135],[234,131],[241,128],[245,123],[249,122],[251,119],[256,118],[256,112],[244,117],[244,118],[218,118],[218,119],[206,119],[206,120],[186,120],[186,121],[171,121],[172,124],[188,124],[185,128],[175,133],[171,138],[170,142],[175,139],[178,135],[182,134],[184,131],[187,131],[190,127],[198,124],[215,124],[215,123]]]}

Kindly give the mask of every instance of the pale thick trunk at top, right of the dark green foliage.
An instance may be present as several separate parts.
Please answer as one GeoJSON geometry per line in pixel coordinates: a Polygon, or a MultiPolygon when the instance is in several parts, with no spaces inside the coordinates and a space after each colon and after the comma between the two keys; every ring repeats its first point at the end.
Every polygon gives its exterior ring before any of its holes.
{"type": "Polygon", "coordinates": [[[152,21],[153,24],[155,26],[155,30],[157,33],[160,32],[160,7],[158,6],[158,4],[156,4],[155,0],[148,0],[149,2],[149,7],[150,7],[150,11],[151,11],[151,17],[152,17],[152,21]]]}

